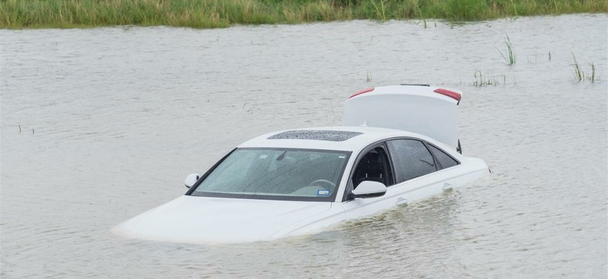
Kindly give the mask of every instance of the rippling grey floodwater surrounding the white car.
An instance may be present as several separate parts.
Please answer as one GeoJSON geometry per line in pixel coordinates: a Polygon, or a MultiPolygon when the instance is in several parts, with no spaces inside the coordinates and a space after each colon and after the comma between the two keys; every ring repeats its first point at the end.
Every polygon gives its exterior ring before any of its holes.
{"type": "Polygon", "coordinates": [[[0,277],[606,278],[607,22],[0,30],[0,277]],[[463,151],[493,174],[282,241],[110,232],[240,142],[339,124],[350,94],[400,83],[463,90],[463,151]]]}

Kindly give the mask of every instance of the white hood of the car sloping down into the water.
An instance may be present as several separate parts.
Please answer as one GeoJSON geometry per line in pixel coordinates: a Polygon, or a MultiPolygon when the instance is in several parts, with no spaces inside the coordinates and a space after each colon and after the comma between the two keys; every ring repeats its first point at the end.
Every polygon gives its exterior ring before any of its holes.
{"type": "Polygon", "coordinates": [[[277,238],[291,225],[331,209],[331,202],[182,196],[113,229],[136,239],[244,243],[277,238]]]}

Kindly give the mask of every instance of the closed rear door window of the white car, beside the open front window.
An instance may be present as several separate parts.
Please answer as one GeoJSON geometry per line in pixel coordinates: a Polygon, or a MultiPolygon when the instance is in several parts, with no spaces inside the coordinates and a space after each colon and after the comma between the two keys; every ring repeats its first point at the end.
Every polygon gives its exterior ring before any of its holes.
{"type": "Polygon", "coordinates": [[[391,140],[387,142],[396,183],[437,171],[433,155],[419,140],[391,140]]]}

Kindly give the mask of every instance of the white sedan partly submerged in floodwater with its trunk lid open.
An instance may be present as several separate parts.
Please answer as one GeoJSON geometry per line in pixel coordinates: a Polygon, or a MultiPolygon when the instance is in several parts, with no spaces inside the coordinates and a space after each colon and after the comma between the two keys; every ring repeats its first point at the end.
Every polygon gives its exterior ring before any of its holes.
{"type": "Polygon", "coordinates": [[[127,237],[243,243],[318,232],[488,174],[461,154],[459,91],[400,85],[346,102],[344,125],[268,133],[240,144],[187,193],[115,227],[127,237]]]}

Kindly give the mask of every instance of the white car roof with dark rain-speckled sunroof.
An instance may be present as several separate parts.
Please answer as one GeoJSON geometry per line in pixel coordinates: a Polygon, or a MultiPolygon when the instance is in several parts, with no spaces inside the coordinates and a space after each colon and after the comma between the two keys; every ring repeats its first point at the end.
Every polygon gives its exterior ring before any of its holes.
{"type": "Polygon", "coordinates": [[[365,146],[392,137],[429,137],[403,130],[363,126],[331,126],[280,130],[254,137],[238,148],[294,148],[359,151],[365,146]]]}

